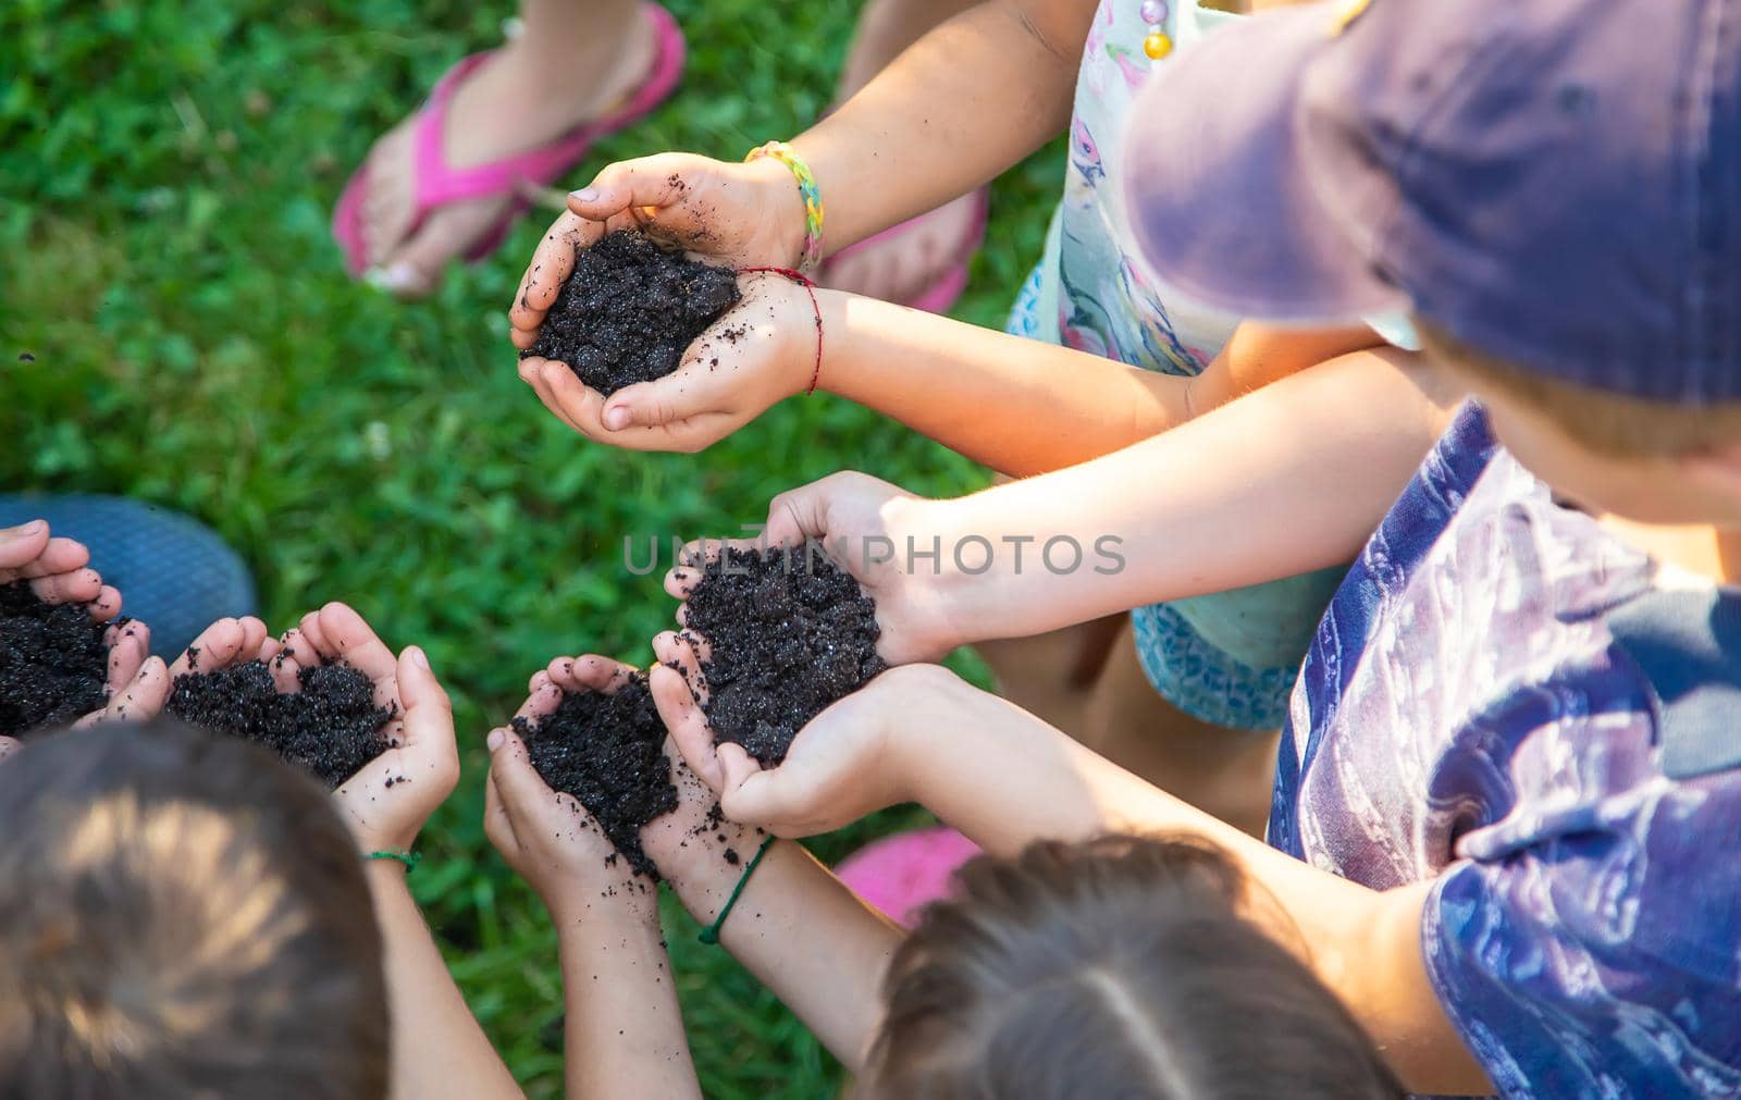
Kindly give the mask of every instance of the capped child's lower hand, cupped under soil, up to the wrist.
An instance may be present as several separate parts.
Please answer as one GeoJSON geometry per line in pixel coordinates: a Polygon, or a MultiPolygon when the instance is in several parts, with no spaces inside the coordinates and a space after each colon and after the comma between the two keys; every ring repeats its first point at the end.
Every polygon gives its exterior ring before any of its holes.
{"type": "Polygon", "coordinates": [[[764,771],[742,745],[714,745],[693,646],[662,634],[655,653],[662,665],[653,670],[653,703],[682,759],[719,794],[729,820],[780,837],[830,832],[912,801],[911,769],[895,750],[898,734],[937,733],[942,726],[933,715],[947,712],[954,693],[970,691],[937,665],[890,668],[799,729],[785,761],[764,771]]]}

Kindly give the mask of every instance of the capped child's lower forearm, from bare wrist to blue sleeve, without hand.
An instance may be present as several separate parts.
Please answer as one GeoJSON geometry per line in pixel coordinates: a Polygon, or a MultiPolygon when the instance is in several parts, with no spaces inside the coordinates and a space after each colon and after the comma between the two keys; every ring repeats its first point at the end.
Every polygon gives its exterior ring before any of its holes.
{"type": "Polygon", "coordinates": [[[1381,893],[1318,870],[1151,787],[1012,703],[945,677],[938,670],[938,691],[919,693],[912,721],[891,736],[893,762],[923,806],[994,855],[1013,855],[1041,837],[1106,832],[1217,844],[1254,884],[1250,919],[1348,1004],[1414,1091],[1490,1091],[1426,976],[1421,907],[1431,882],[1381,893]]]}

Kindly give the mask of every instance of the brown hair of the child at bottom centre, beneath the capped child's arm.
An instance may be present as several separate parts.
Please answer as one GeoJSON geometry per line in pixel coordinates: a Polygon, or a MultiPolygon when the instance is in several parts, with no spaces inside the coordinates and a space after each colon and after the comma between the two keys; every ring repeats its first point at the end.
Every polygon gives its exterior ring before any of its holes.
{"type": "Polygon", "coordinates": [[[961,869],[895,952],[860,1097],[1400,1097],[1349,1011],[1196,841],[1038,842],[961,869]]]}

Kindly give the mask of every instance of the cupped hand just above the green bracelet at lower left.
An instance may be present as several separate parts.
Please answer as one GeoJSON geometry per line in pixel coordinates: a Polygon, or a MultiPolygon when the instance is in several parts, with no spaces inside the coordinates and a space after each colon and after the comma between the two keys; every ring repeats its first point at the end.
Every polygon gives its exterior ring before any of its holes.
{"type": "Polygon", "coordinates": [[[460,781],[453,707],[428,656],[406,646],[393,658],[369,623],[338,602],[305,614],[280,644],[282,660],[268,660],[280,691],[299,688],[303,667],[345,663],[374,681],[376,707],[393,708],[381,731],[388,748],[345,780],[333,799],[364,853],[409,849],[460,781]]]}

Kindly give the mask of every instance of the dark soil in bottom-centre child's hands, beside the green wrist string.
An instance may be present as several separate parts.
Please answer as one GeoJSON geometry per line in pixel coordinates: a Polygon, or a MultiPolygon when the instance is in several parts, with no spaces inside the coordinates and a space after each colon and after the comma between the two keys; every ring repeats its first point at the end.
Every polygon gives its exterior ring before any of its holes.
{"type": "MultiPolygon", "coordinates": [[[[637,875],[658,881],[641,827],[677,809],[665,755],[665,722],[637,675],[611,694],[569,691],[536,724],[514,719],[533,768],[552,790],[575,795],[637,875]]],[[[615,856],[613,856],[615,858],[615,856]]]]}

